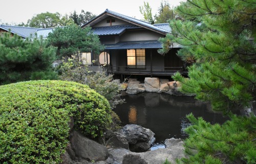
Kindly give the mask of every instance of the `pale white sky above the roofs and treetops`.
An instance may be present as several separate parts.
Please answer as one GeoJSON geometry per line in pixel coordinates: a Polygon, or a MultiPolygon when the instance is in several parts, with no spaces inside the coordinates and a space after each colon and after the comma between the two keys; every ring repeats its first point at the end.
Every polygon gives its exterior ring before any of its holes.
{"type": "MultiPolygon", "coordinates": [[[[117,13],[141,19],[139,6],[143,6],[143,2],[148,2],[155,15],[162,0],[12,0],[3,1],[0,4],[0,24],[20,23],[27,24],[28,19],[40,13],[60,13],[69,15],[76,10],[80,14],[81,10],[90,11],[93,14],[100,14],[109,9],[117,13]]],[[[170,6],[177,6],[181,1],[185,0],[167,0],[170,6]]],[[[164,2],[164,0],[163,0],[164,2]]]]}

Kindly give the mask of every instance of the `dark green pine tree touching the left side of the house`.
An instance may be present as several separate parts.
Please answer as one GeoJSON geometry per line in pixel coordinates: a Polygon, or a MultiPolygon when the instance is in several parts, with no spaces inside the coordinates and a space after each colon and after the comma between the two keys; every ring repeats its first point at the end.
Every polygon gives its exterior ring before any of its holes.
{"type": "Polygon", "coordinates": [[[99,37],[93,34],[90,27],[80,28],[77,25],[67,27],[57,27],[53,33],[48,35],[48,45],[56,46],[57,55],[62,57],[71,57],[76,52],[91,52],[96,54],[104,49],[100,43],[99,37]]]}

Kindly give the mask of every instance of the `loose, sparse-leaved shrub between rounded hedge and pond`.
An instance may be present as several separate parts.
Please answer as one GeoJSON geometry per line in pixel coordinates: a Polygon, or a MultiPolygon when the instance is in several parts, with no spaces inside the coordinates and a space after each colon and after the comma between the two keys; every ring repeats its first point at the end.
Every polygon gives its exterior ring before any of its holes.
{"type": "Polygon", "coordinates": [[[120,99],[121,83],[113,80],[113,75],[106,75],[103,67],[99,67],[96,72],[92,72],[88,65],[84,65],[79,57],[69,59],[59,66],[59,78],[61,80],[75,81],[87,84],[104,96],[110,103],[111,108],[123,103],[120,99]]]}

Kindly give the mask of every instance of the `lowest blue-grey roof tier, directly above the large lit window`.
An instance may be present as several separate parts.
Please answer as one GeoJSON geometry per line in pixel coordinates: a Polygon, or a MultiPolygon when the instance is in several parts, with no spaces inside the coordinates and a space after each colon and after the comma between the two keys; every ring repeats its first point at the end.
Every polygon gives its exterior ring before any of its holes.
{"type": "Polygon", "coordinates": [[[120,41],[116,44],[105,44],[105,50],[161,49],[161,48],[162,48],[162,44],[158,40],[120,41]]]}

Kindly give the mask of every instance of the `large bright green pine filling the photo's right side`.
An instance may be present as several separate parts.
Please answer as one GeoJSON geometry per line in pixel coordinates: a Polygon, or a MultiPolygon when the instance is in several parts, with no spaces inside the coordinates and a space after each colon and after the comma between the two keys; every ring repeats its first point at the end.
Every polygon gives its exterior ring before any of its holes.
{"type": "Polygon", "coordinates": [[[188,77],[177,73],[181,90],[211,103],[212,109],[228,113],[230,121],[210,125],[193,115],[186,129],[187,159],[179,163],[256,163],[255,102],[256,5],[243,0],[188,0],[177,11],[185,21],[172,20],[172,34],[160,39],[164,53],[172,42],[184,46],[178,52],[188,67],[188,77]],[[230,111],[239,108],[248,116],[230,111]],[[255,111],[254,111],[255,112],[255,111]]]}

